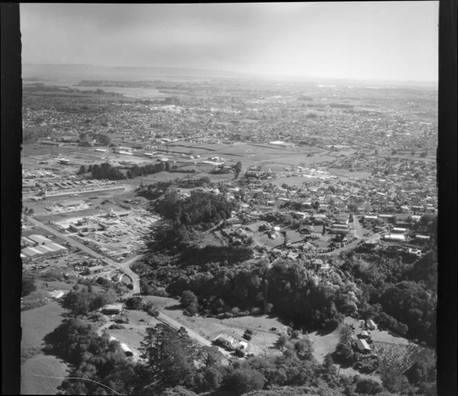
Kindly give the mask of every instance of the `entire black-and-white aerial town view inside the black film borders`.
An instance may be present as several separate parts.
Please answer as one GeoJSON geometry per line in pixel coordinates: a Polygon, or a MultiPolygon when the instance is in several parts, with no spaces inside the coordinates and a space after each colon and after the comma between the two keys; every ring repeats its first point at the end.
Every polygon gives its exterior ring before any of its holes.
{"type": "Polygon", "coordinates": [[[437,395],[438,10],[21,3],[21,394],[437,395]]]}

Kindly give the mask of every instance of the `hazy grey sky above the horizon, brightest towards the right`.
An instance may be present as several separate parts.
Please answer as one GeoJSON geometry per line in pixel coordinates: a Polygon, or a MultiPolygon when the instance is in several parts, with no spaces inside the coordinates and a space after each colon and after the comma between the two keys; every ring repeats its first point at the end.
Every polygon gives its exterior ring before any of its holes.
{"type": "Polygon", "coordinates": [[[23,64],[437,82],[439,1],[21,3],[23,64]]]}

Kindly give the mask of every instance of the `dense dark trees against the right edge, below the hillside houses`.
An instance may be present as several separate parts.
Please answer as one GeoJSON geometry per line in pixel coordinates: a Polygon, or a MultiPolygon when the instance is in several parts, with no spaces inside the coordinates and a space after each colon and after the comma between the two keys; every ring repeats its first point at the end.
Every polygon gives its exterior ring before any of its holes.
{"type": "Polygon", "coordinates": [[[359,306],[379,326],[436,343],[437,256],[431,249],[412,264],[400,258],[348,254],[340,268],[363,292],[359,306]],[[368,266],[367,263],[370,263],[368,266]]]}

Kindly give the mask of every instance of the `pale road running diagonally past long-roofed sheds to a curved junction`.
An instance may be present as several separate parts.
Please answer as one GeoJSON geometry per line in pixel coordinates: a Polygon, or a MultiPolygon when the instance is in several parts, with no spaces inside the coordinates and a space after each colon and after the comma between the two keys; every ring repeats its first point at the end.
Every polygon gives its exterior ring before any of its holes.
{"type": "Polygon", "coordinates": [[[85,252],[94,258],[99,258],[101,261],[104,261],[108,265],[111,265],[112,267],[115,267],[118,270],[124,272],[124,274],[126,274],[132,280],[132,294],[138,294],[140,292],[140,278],[137,274],[135,274],[135,272],[130,270],[130,264],[142,258],[142,255],[130,258],[129,260],[124,261],[123,263],[116,263],[115,261],[112,261],[110,258],[106,258],[105,256],[102,256],[101,254],[94,252],[94,250],[90,249],[90,247],[87,247],[86,245],[83,245],[82,243],[75,241],[74,239],[70,238],[70,236],[64,235],[56,229],[39,222],[37,219],[31,218],[30,216],[26,216],[26,218],[30,221],[30,223],[37,225],[38,227],[41,227],[43,229],[46,229],[46,231],[50,232],[51,234],[54,234],[55,236],[62,238],[70,245],[80,249],[81,252],[85,252]]]}

